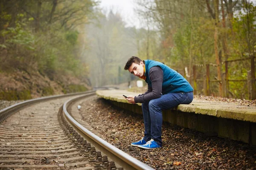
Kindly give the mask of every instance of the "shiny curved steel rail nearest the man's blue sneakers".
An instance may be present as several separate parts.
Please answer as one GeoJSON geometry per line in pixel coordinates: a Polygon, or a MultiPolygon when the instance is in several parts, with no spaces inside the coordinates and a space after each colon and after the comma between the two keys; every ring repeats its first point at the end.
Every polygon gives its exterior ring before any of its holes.
{"type": "Polygon", "coordinates": [[[89,95],[91,94],[86,94],[74,99],[70,99],[63,105],[63,113],[65,115],[65,118],[73,126],[73,128],[76,129],[76,131],[78,131],[79,134],[83,136],[87,141],[93,144],[102,153],[108,155],[110,159],[122,166],[125,170],[154,170],[154,168],[135,159],[134,157],[123,152],[122,150],[119,150],[117,147],[114,147],[112,144],[101,139],[99,136],[96,136],[94,133],[90,132],[85,127],[76,122],[76,120],[73,119],[72,116],[70,116],[70,114],[67,112],[67,108],[69,107],[69,105],[72,102],[75,102],[76,100],[79,100],[89,95]]]}

